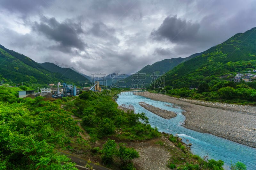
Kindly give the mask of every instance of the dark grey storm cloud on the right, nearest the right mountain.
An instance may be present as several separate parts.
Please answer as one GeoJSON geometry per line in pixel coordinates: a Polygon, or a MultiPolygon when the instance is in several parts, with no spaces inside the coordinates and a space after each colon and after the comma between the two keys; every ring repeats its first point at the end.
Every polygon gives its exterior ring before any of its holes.
{"type": "Polygon", "coordinates": [[[166,17],[159,28],[151,32],[151,36],[155,40],[167,39],[171,42],[187,42],[196,37],[200,28],[197,23],[173,17],[166,17]]]}

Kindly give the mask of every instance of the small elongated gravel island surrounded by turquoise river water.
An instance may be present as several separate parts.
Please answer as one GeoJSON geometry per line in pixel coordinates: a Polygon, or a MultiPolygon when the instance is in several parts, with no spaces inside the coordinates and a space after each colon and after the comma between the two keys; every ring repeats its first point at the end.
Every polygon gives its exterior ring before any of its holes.
{"type": "Polygon", "coordinates": [[[171,111],[168,111],[168,110],[163,110],[163,109],[160,109],[158,107],[154,107],[154,106],[149,105],[148,103],[145,103],[145,102],[140,102],[139,104],[140,104],[140,106],[144,107],[148,111],[150,111],[150,112],[152,112],[152,113],[154,113],[158,116],[161,116],[164,119],[171,119],[171,118],[177,116],[177,114],[174,113],[174,112],[171,112],[171,111]]]}

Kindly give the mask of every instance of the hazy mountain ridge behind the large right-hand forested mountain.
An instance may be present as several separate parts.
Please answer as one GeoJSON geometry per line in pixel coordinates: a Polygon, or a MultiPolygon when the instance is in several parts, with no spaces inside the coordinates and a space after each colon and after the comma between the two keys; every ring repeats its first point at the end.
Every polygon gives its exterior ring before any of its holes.
{"type": "MultiPolygon", "coordinates": [[[[133,76],[128,76],[124,79],[124,85],[126,87],[132,87],[132,82],[135,82],[136,75],[140,76],[140,78],[145,78],[143,81],[146,86],[148,86],[151,83],[153,73],[157,76],[163,75],[163,73],[166,73],[169,70],[172,70],[175,66],[177,66],[180,63],[183,63],[191,58],[194,58],[198,55],[201,55],[201,53],[196,53],[193,55],[190,55],[186,58],[171,58],[171,59],[164,59],[162,61],[156,62],[152,65],[147,65],[143,67],[140,71],[136,72],[133,76]],[[132,80],[133,79],[133,80],[132,80]]],[[[141,82],[140,82],[141,83],[141,82]]],[[[136,86],[136,85],[135,85],[136,86]]]]}

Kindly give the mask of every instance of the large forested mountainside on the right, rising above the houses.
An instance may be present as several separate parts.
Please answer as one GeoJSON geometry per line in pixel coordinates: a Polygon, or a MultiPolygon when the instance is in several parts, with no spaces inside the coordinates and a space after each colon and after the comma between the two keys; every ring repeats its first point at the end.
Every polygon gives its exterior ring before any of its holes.
{"type": "Polygon", "coordinates": [[[214,85],[220,76],[233,78],[237,72],[256,68],[256,27],[237,33],[203,54],[179,64],[166,73],[165,85],[175,88],[214,85]]]}

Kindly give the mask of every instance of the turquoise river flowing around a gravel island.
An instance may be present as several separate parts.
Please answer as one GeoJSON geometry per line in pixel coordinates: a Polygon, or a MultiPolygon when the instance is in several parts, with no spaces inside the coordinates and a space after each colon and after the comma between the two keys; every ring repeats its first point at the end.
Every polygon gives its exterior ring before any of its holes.
{"type": "Polygon", "coordinates": [[[193,154],[201,157],[208,155],[208,159],[221,159],[225,162],[225,169],[230,169],[232,160],[232,163],[236,163],[237,161],[243,162],[247,166],[247,170],[256,170],[255,148],[211,134],[200,133],[184,128],[182,124],[186,118],[182,115],[183,110],[172,103],[151,100],[146,97],[134,95],[132,92],[122,92],[116,102],[118,105],[132,105],[135,113],[144,112],[149,119],[149,124],[152,127],[157,127],[158,131],[173,135],[178,134],[179,137],[183,138],[183,142],[192,144],[191,152],[193,154]],[[161,109],[175,112],[177,116],[169,120],[164,119],[141,107],[139,105],[141,101],[161,109]],[[188,142],[186,142],[187,139],[189,140],[188,142]]]}

